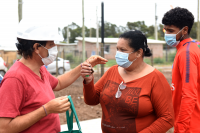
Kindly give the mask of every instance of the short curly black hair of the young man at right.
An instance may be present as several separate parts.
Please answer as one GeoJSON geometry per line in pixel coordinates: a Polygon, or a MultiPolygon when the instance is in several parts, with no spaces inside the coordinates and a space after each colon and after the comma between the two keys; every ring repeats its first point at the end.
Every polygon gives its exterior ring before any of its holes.
{"type": "Polygon", "coordinates": [[[190,31],[194,24],[194,16],[187,9],[176,7],[164,14],[162,23],[164,25],[174,25],[179,29],[188,26],[188,34],[190,34],[190,31]]]}

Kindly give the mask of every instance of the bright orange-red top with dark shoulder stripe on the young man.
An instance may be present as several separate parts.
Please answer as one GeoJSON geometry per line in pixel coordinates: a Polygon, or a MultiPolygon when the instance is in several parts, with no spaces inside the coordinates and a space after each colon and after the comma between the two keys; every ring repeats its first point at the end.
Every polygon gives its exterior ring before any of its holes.
{"type": "Polygon", "coordinates": [[[176,47],[172,69],[175,133],[200,133],[200,50],[190,38],[176,47]]]}

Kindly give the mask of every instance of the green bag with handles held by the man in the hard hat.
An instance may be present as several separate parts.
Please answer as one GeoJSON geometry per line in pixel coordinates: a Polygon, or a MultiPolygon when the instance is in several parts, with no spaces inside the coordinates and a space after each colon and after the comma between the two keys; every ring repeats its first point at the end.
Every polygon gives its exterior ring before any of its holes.
{"type": "Polygon", "coordinates": [[[71,96],[68,96],[68,98],[69,98],[69,101],[71,103],[71,106],[70,106],[71,114],[69,115],[69,111],[68,110],[66,111],[67,126],[68,126],[69,131],[63,131],[63,132],[60,132],[60,133],[82,133],[81,126],[80,126],[80,123],[79,123],[79,120],[78,120],[78,116],[76,114],[76,110],[75,110],[74,104],[72,102],[72,98],[71,98],[71,96]],[[73,130],[73,116],[75,116],[76,123],[78,125],[79,130],[73,130]]]}

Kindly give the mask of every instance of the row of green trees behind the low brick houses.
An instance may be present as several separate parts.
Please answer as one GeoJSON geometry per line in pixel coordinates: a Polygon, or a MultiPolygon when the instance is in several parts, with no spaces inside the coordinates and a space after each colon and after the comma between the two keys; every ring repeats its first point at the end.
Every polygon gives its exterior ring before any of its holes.
{"type": "MultiPolygon", "coordinates": [[[[101,22],[99,22],[99,37],[101,37],[101,22]]],[[[76,37],[82,37],[82,27],[77,25],[76,23],[72,22],[69,26],[70,38],[69,42],[73,43],[76,37]]],[[[96,37],[96,29],[92,28],[92,37],[96,37]]],[[[128,22],[126,27],[117,26],[116,24],[112,24],[110,22],[104,23],[104,37],[110,38],[118,38],[120,34],[124,33],[127,30],[140,30],[142,31],[147,38],[154,39],[154,25],[146,26],[144,21],[137,21],[137,22],[128,22]]],[[[62,29],[62,34],[65,40],[67,40],[67,27],[62,29]]],[[[192,36],[196,35],[195,26],[191,31],[192,36]],[[194,32],[194,33],[193,33],[194,32]],[[194,35],[193,35],[194,34],[194,35]]],[[[85,27],[85,36],[90,36],[90,29],[85,27]]],[[[164,40],[164,33],[163,33],[163,25],[160,24],[158,26],[158,39],[164,40]]]]}

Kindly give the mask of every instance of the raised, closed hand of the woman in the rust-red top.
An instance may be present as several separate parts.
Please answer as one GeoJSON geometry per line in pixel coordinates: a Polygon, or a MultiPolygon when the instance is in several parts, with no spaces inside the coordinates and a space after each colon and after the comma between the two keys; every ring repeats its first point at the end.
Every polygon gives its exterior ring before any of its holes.
{"type": "Polygon", "coordinates": [[[84,78],[85,83],[88,84],[92,81],[93,79],[93,74],[92,74],[92,67],[91,64],[85,62],[82,63],[81,66],[81,76],[84,78]]]}

